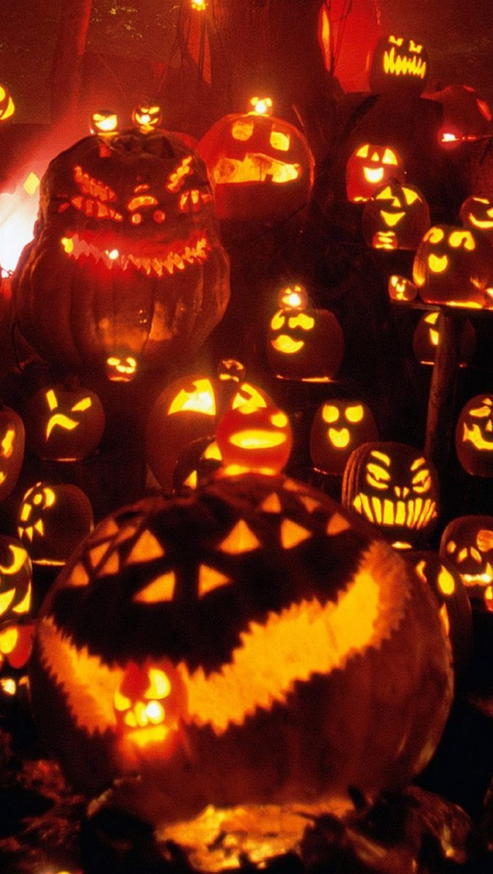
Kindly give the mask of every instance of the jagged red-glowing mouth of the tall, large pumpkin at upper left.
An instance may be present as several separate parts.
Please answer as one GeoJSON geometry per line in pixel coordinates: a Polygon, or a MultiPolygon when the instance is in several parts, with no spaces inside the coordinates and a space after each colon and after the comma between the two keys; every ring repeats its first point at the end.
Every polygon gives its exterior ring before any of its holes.
{"type": "Polygon", "coordinates": [[[121,253],[117,247],[101,249],[86,236],[78,233],[64,237],[61,243],[65,253],[73,260],[78,260],[82,256],[93,258],[96,263],[102,261],[110,270],[115,267],[126,270],[128,265],[132,264],[142,274],[147,276],[154,274],[159,277],[163,274],[172,275],[175,270],[184,270],[191,264],[203,264],[211,249],[209,240],[200,234],[191,236],[186,242],[177,240],[173,244],[156,245],[154,250],[156,254],[152,256],[121,253]]]}

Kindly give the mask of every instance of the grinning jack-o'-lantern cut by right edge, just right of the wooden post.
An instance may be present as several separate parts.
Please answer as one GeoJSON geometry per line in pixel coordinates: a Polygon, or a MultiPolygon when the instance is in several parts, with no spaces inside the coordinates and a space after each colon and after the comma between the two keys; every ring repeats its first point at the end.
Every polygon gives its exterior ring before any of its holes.
{"type": "Polygon", "coordinates": [[[471,476],[493,476],[493,395],[476,394],[455,426],[455,452],[471,476]]]}

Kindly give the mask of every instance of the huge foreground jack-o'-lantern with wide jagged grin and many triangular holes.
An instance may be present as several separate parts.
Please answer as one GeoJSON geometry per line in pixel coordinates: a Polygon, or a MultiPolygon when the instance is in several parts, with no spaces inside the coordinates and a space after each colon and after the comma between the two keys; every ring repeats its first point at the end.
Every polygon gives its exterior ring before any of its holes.
{"type": "Polygon", "coordinates": [[[371,527],[249,474],[98,524],[38,614],[31,697],[73,787],[123,778],[116,805],[173,822],[405,785],[448,718],[450,659],[433,596],[371,527]],[[170,718],[140,736],[151,669],[170,718]]]}

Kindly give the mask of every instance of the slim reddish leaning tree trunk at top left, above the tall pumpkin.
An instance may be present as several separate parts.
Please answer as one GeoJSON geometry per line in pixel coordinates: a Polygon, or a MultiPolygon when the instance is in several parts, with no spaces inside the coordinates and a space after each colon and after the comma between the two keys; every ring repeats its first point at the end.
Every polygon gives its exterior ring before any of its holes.
{"type": "Polygon", "coordinates": [[[70,125],[77,119],[91,5],[92,0],[61,3],[51,71],[52,123],[55,125],[70,125]]]}

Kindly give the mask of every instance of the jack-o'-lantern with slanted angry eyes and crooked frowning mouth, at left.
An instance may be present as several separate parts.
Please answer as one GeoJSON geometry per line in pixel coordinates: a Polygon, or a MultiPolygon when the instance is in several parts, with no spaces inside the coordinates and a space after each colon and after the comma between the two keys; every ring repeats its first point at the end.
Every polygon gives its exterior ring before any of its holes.
{"type": "Polygon", "coordinates": [[[27,445],[40,458],[80,461],[94,452],[105,428],[97,394],[76,385],[35,392],[24,411],[27,445]]]}

